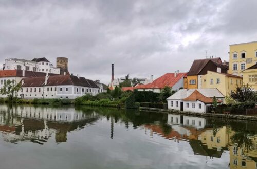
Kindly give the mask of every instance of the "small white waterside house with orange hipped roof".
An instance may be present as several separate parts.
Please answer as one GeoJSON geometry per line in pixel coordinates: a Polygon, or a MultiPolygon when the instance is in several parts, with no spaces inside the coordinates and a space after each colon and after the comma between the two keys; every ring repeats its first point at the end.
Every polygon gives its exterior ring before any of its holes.
{"type": "Polygon", "coordinates": [[[167,98],[168,109],[206,113],[214,96],[219,103],[225,98],[217,89],[180,89],[167,98]]]}

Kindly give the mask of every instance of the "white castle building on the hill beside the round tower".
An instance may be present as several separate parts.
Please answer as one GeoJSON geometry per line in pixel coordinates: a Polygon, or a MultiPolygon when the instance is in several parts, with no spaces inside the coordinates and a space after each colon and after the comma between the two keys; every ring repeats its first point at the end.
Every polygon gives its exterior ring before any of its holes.
{"type": "Polygon", "coordinates": [[[3,70],[26,70],[60,74],[60,68],[55,68],[45,57],[32,60],[9,58],[5,59],[3,70]]]}

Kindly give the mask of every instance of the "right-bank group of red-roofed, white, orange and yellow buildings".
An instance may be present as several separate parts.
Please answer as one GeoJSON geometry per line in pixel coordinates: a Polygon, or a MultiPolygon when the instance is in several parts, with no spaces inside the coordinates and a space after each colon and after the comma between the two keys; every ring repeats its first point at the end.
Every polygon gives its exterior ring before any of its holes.
{"type": "Polygon", "coordinates": [[[226,103],[225,97],[243,84],[257,92],[257,41],[230,45],[229,61],[197,59],[188,72],[166,73],[151,83],[124,90],[160,92],[169,86],[177,92],[167,98],[168,109],[204,113],[214,96],[218,104],[226,103]]]}

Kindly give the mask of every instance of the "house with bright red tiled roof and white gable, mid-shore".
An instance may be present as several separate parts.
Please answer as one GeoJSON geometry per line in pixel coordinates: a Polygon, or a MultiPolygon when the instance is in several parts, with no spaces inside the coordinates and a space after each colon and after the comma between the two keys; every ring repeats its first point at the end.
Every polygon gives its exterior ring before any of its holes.
{"type": "Polygon", "coordinates": [[[187,73],[166,73],[159,78],[155,79],[153,82],[146,85],[137,85],[134,89],[138,91],[153,91],[155,93],[160,93],[161,89],[165,86],[172,88],[172,90],[179,90],[183,87],[183,77],[187,73]]]}

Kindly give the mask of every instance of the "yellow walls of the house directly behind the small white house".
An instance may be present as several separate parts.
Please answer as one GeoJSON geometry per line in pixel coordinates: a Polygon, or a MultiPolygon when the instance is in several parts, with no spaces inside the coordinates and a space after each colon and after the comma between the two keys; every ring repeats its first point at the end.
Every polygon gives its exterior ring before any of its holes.
{"type": "Polygon", "coordinates": [[[202,80],[203,89],[217,88],[224,96],[234,91],[236,86],[243,84],[243,79],[240,76],[212,71],[207,71],[207,74],[202,76],[202,80]]]}

